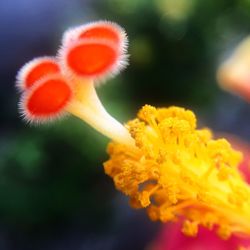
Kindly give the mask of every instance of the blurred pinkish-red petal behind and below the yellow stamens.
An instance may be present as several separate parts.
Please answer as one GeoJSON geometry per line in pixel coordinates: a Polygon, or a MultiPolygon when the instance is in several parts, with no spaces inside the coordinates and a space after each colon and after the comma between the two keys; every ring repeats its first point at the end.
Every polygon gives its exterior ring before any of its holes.
{"type": "MultiPolygon", "coordinates": [[[[243,153],[243,161],[240,164],[247,182],[250,183],[250,145],[237,137],[220,134],[233,145],[233,148],[243,153]]],[[[238,250],[250,249],[250,237],[241,238],[231,236],[228,240],[222,240],[216,235],[215,230],[200,227],[197,237],[187,237],[181,232],[181,222],[168,223],[162,229],[149,250],[238,250]]]]}

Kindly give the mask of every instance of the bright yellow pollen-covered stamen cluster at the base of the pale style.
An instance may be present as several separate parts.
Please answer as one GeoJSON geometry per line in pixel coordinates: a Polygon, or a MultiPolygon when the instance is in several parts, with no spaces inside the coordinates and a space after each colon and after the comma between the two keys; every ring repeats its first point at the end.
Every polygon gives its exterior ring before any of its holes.
{"type": "Polygon", "coordinates": [[[182,220],[195,236],[199,225],[227,239],[250,235],[250,186],[238,165],[241,153],[225,139],[196,129],[193,112],[144,106],[127,127],[135,147],[111,142],[105,172],[134,208],[152,220],[182,220]]]}

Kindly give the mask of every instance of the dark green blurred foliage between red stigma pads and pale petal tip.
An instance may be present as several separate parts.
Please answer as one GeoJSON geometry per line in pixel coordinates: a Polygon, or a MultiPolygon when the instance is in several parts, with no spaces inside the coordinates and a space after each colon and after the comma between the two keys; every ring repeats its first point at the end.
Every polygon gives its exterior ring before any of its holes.
{"type": "Polygon", "coordinates": [[[101,17],[121,23],[130,38],[124,76],[138,106],[146,102],[209,109],[219,91],[219,56],[248,34],[248,1],[153,0],[97,2],[101,17]],[[107,14],[108,13],[108,14],[107,14]]]}

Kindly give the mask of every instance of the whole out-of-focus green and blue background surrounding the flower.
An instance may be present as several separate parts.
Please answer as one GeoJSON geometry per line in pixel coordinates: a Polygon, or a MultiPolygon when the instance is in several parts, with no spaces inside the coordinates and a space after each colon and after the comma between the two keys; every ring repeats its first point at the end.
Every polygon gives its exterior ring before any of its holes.
{"type": "Polygon", "coordinates": [[[141,250],[161,228],[105,176],[108,139],[74,117],[28,126],[18,69],[54,55],[71,26],[106,19],[129,36],[130,65],[98,89],[125,122],[143,104],[191,108],[200,126],[250,140],[250,106],[224,93],[216,69],[250,34],[249,0],[0,1],[0,249],[141,250]]]}

